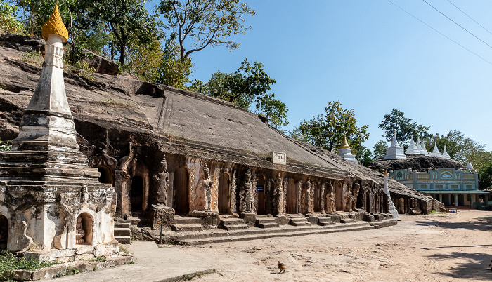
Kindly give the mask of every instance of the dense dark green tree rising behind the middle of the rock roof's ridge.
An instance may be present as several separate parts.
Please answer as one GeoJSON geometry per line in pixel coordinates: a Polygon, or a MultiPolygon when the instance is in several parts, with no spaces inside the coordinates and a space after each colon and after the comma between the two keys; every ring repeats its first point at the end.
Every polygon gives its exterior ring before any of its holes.
{"type": "Polygon", "coordinates": [[[207,83],[195,80],[190,90],[226,100],[243,109],[250,109],[255,104],[255,112],[268,118],[275,126],[287,125],[287,106],[269,93],[271,85],[276,83],[266,74],[260,62],[253,65],[247,61],[233,73],[216,72],[207,83]]]}

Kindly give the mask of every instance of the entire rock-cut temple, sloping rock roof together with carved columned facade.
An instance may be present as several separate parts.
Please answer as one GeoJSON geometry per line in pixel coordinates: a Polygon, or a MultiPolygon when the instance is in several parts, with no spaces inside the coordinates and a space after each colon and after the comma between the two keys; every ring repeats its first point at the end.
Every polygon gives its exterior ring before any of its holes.
{"type": "MultiPolygon", "coordinates": [[[[40,68],[19,62],[11,49],[0,47],[0,57],[0,139],[8,140],[18,133],[40,68]]],[[[293,140],[223,100],[125,75],[95,76],[65,73],[65,88],[77,142],[99,180],[115,187],[117,216],[144,214],[141,224],[152,226],[163,206],[169,219],[175,212],[207,222],[219,213],[355,210],[374,220],[387,212],[382,173],[293,140]],[[271,152],[285,152],[286,164],[273,163],[271,152]]],[[[389,190],[403,199],[405,213],[432,210],[430,197],[394,180],[389,190]]]]}

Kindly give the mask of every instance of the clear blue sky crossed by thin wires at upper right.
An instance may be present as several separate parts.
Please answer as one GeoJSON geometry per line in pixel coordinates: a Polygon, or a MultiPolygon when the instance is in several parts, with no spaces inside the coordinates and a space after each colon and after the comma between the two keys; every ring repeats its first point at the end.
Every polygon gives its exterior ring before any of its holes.
{"type": "MultiPolygon", "coordinates": [[[[425,1],[391,0],[465,48],[492,62],[492,48],[425,1]]],[[[492,1],[426,0],[492,46],[492,1]]],[[[238,50],[206,48],[192,55],[192,79],[233,72],[244,58],[263,63],[276,79],[272,92],[289,108],[290,130],[340,100],[369,125],[369,149],[382,139],[377,125],[396,108],[431,133],[458,129],[492,150],[492,64],[415,20],[387,0],[252,0],[252,30],[236,36],[238,50]]]]}

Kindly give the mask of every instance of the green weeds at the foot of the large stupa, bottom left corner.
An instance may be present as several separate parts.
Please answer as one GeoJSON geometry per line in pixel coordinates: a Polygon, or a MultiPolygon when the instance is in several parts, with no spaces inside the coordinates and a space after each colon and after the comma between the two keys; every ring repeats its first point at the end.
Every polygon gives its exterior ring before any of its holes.
{"type": "Polygon", "coordinates": [[[44,267],[51,267],[57,262],[39,263],[34,257],[16,257],[13,253],[3,251],[0,253],[0,280],[7,279],[5,275],[13,270],[37,270],[44,267]]]}

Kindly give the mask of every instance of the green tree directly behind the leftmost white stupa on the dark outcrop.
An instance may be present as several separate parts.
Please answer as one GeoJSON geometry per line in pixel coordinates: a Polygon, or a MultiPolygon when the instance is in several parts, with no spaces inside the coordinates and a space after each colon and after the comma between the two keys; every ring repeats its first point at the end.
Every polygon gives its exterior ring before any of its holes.
{"type": "Polygon", "coordinates": [[[414,138],[420,137],[420,140],[429,137],[429,133],[427,133],[429,126],[422,126],[412,122],[412,119],[407,118],[398,109],[393,109],[390,114],[385,114],[378,127],[384,130],[382,137],[386,138],[388,142],[391,141],[393,133],[396,132],[396,140],[405,149],[408,147],[412,136],[414,138]]]}

